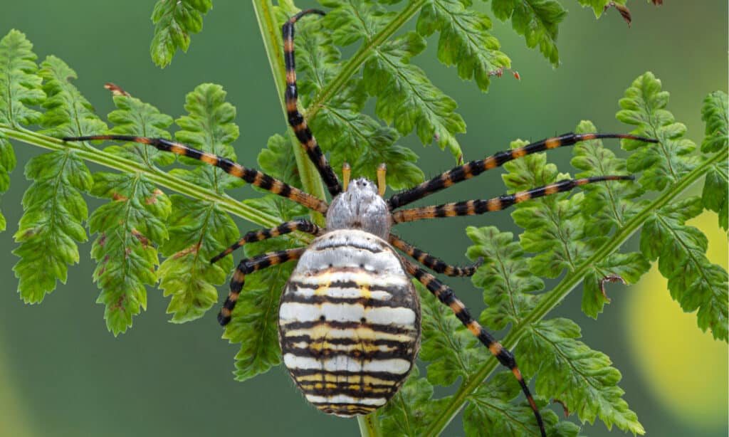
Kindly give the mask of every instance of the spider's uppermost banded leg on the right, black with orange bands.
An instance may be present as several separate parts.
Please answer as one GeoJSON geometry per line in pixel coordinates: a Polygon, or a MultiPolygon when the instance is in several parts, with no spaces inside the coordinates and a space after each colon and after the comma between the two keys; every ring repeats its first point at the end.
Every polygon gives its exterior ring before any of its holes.
{"type": "Polygon", "coordinates": [[[651,138],[618,133],[565,133],[564,135],[547,138],[542,141],[537,141],[536,143],[518,147],[517,149],[499,151],[499,153],[486,157],[483,160],[467,162],[466,164],[448,170],[429,181],[425,181],[418,186],[414,186],[404,192],[395,194],[389,198],[387,204],[389,205],[390,210],[394,210],[395,208],[408,205],[410,202],[415,202],[418,199],[422,199],[423,197],[433,194],[434,192],[438,192],[448,186],[465,181],[466,179],[470,179],[474,176],[478,176],[486,170],[501,167],[505,162],[526,157],[528,154],[537,153],[539,151],[556,149],[561,146],[572,146],[580,141],[595,140],[599,138],[630,138],[632,140],[645,141],[647,143],[658,143],[658,140],[653,140],[651,138]]]}

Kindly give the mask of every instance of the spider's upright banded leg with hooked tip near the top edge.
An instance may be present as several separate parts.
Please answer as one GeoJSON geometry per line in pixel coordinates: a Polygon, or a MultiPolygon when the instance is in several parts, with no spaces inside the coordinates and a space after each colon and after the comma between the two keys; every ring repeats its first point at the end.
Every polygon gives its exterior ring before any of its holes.
{"type": "Polygon", "coordinates": [[[297,106],[298,90],[296,86],[296,62],[294,55],[294,23],[297,22],[301,17],[308,14],[319,14],[324,15],[317,9],[307,9],[294,15],[284,23],[284,27],[281,31],[284,34],[284,63],[286,64],[286,92],[284,97],[286,98],[286,113],[289,118],[289,125],[294,130],[296,138],[308,154],[309,159],[316,166],[316,170],[319,170],[319,175],[324,179],[324,184],[327,184],[327,189],[332,197],[342,192],[342,187],[339,184],[337,175],[332,170],[332,167],[327,162],[327,158],[321,152],[319,143],[316,142],[316,138],[309,130],[308,125],[304,116],[299,112],[297,106]]]}

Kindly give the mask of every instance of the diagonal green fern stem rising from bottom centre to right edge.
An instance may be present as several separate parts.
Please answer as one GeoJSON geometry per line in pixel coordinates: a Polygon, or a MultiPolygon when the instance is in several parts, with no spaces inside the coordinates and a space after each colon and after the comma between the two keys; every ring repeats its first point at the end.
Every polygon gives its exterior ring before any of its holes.
{"type": "MultiPolygon", "coordinates": [[[[539,302],[534,310],[529,312],[529,314],[520,320],[519,323],[516,323],[509,334],[504,337],[504,340],[501,342],[502,345],[507,349],[513,349],[521,337],[526,334],[526,331],[529,330],[530,326],[534,325],[534,323],[537,323],[539,320],[542,320],[548,312],[553,310],[554,307],[562,302],[572,289],[574,289],[582,281],[582,278],[588,274],[590,268],[594,264],[598,263],[601,259],[605,259],[605,257],[607,257],[610,253],[613,253],[620,248],[620,245],[625,243],[631,235],[640,229],[642,224],[647,221],[651,214],[655,213],[655,211],[660,208],[663,208],[663,206],[668,205],[669,202],[676,200],[682,192],[685,192],[689,186],[704,176],[709,170],[709,167],[717,162],[722,162],[722,160],[725,161],[727,159],[729,159],[729,152],[726,150],[710,157],[708,160],[702,162],[701,165],[698,165],[698,167],[690,173],[687,173],[687,175],[679,180],[677,184],[671,186],[670,189],[667,189],[666,192],[663,192],[663,194],[661,194],[657,199],[653,200],[647,208],[637,213],[629,221],[625,222],[624,227],[617,229],[615,235],[612,235],[604,245],[593,253],[592,256],[585,259],[585,261],[581,264],[578,264],[572,272],[567,273],[558,286],[546,294],[545,299],[542,299],[542,302],[539,302]]],[[[440,435],[451,420],[453,420],[453,417],[455,417],[464,406],[467,396],[470,393],[473,393],[476,388],[481,385],[488,375],[496,369],[498,364],[499,363],[496,360],[490,359],[486,361],[486,363],[484,363],[475,374],[469,377],[469,379],[464,382],[461,387],[459,387],[459,390],[455,395],[453,395],[451,401],[443,407],[438,417],[436,417],[426,430],[425,435],[440,435]]]]}

